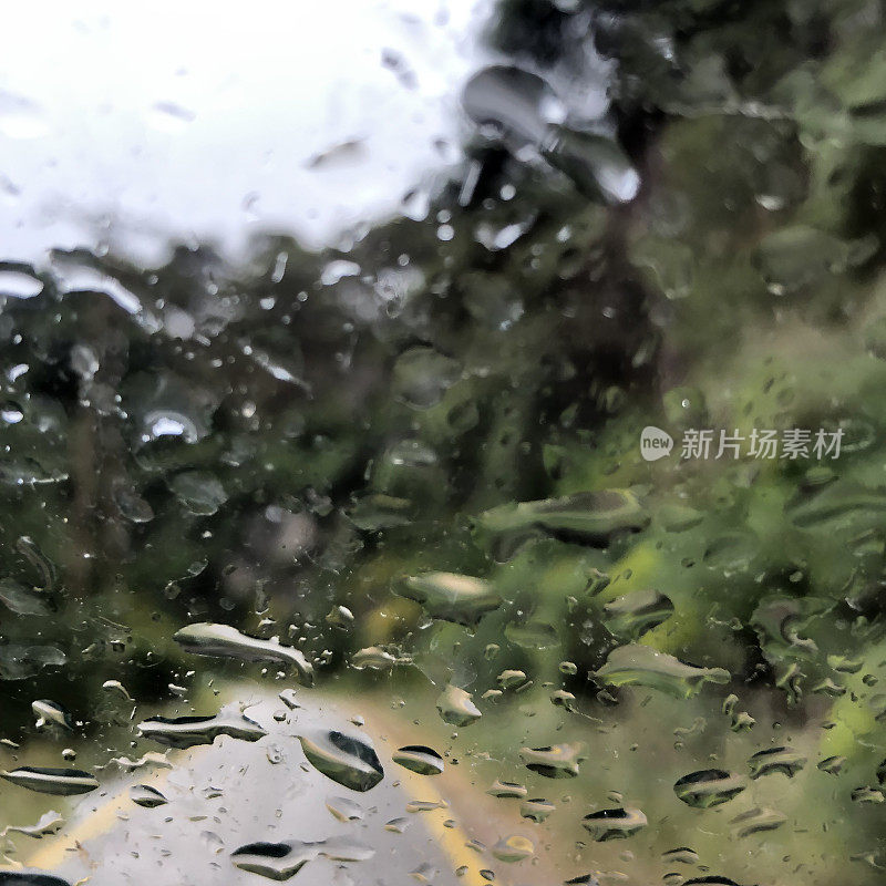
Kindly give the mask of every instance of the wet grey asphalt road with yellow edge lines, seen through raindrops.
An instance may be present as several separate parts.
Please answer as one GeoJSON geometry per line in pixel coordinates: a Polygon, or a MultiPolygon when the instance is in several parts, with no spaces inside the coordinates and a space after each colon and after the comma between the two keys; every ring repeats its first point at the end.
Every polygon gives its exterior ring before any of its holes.
{"type": "MultiPolygon", "coordinates": [[[[478,817],[490,822],[483,802],[475,805],[468,800],[482,792],[465,792],[453,781],[459,776],[452,770],[457,767],[436,776],[415,774],[391,760],[391,753],[414,735],[398,736],[391,721],[383,722],[383,712],[373,718],[367,711],[365,700],[367,722],[357,727],[344,703],[317,699],[316,693],[300,693],[305,707],[289,710],[271,693],[250,691],[247,701],[255,703],[245,713],[268,735],[257,742],[223,735],[212,745],[169,751],[172,767],[146,766],[102,777],[99,791],[64,813],[65,825],[58,835],[17,841],[18,858],[28,869],[52,873],[70,884],[257,886],[268,880],[233,863],[231,853],[244,844],[338,838],[343,843],[333,845],[346,847],[349,839],[359,841],[370,847],[372,857],[333,861],[319,855],[292,876],[293,886],[482,886],[488,875],[481,870],[490,868],[496,869],[496,884],[535,882],[528,859],[501,865],[488,852],[467,846],[484,831],[472,822],[478,817]],[[282,712],[286,718],[280,721],[282,712]],[[367,735],[384,779],[358,792],[320,773],[296,738],[312,728],[367,735]],[[130,796],[134,784],[159,791],[168,802],[154,808],[136,805],[130,796]],[[459,808],[460,796],[468,808],[459,808]],[[416,811],[415,804],[436,807],[416,811]],[[359,817],[339,821],[329,805],[359,817]],[[391,825],[394,820],[400,821],[391,825]],[[33,851],[25,852],[23,843],[33,845],[33,851]]],[[[241,704],[234,702],[226,710],[239,712],[241,704]]],[[[64,807],[63,799],[47,800],[47,808],[64,807]]]]}

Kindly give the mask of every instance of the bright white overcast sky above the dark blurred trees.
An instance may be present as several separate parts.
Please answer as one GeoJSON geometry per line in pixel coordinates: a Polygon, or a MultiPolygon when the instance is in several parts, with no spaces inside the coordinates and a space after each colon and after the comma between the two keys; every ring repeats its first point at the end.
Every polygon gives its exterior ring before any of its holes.
{"type": "Polygon", "coordinates": [[[318,246],[457,158],[491,0],[16,3],[0,56],[0,259],[168,236],[318,246]],[[382,64],[398,52],[409,89],[382,64]],[[435,146],[449,143],[449,152],[435,146]],[[320,167],[309,161],[358,141],[320,167]]]}

